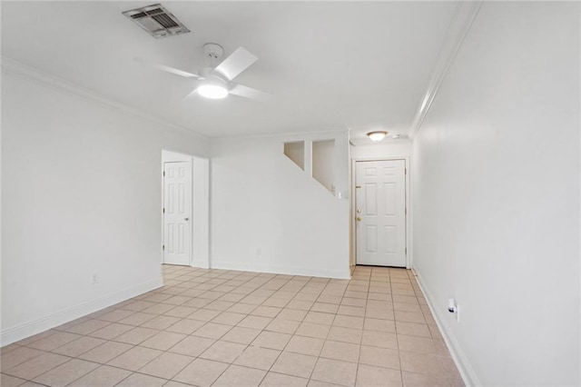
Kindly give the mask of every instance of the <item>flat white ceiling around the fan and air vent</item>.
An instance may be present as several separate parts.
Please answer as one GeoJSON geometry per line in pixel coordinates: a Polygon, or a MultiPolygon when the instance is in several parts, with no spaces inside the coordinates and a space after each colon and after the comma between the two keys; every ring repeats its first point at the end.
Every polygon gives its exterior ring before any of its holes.
{"type": "Polygon", "coordinates": [[[454,2],[162,1],[192,32],[154,39],[122,15],[156,3],[2,2],[2,55],[208,136],[353,127],[406,134],[454,2]],[[236,82],[269,92],[182,101],[192,81],[134,60],[198,72],[204,43],[259,57],[236,82]]]}

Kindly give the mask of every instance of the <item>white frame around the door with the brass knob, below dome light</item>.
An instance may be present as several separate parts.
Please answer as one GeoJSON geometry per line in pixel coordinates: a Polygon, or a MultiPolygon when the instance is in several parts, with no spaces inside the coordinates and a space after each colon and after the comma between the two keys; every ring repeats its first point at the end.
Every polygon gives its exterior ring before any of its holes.
{"type": "Polygon", "coordinates": [[[407,213],[405,215],[405,222],[406,222],[406,269],[411,269],[413,263],[413,254],[412,254],[412,235],[411,235],[411,190],[410,188],[410,157],[409,156],[389,156],[389,157],[354,157],[351,159],[351,205],[350,205],[350,225],[351,225],[351,262],[350,265],[357,264],[357,222],[355,218],[357,217],[357,191],[355,189],[355,185],[357,182],[357,168],[356,165],[359,162],[372,162],[372,161],[391,161],[391,160],[403,160],[405,162],[406,174],[405,174],[405,190],[406,190],[406,208],[407,213]]]}

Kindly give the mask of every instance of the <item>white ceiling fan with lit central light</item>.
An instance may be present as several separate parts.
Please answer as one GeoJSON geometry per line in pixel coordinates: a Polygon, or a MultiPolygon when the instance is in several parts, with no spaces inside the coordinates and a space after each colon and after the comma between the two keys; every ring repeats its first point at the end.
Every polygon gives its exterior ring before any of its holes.
{"type": "Polygon", "coordinates": [[[258,60],[258,57],[252,55],[243,47],[238,47],[236,51],[224,59],[219,65],[215,65],[224,54],[222,45],[207,43],[203,45],[203,51],[206,56],[211,58],[212,65],[203,67],[200,74],[189,73],[167,65],[151,65],[167,73],[196,79],[198,81],[196,88],[184,98],[193,94],[200,94],[206,98],[221,99],[225,98],[228,94],[234,94],[262,102],[270,99],[271,94],[261,92],[260,90],[243,84],[231,82],[236,76],[254,64],[258,60]]]}

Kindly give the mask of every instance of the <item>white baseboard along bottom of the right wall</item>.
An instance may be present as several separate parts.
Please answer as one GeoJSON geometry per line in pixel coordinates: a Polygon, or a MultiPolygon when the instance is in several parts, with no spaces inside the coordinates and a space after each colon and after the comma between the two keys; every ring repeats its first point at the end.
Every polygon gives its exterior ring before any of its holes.
{"type": "MultiPolygon", "coordinates": [[[[413,271],[414,275],[416,276],[416,282],[419,285],[419,289],[421,293],[424,294],[424,298],[428,303],[429,311],[434,316],[434,320],[438,325],[439,332],[442,333],[442,337],[444,338],[444,342],[446,342],[446,346],[448,347],[448,351],[452,356],[452,360],[456,363],[456,367],[458,368],[458,372],[460,372],[460,376],[462,376],[462,380],[464,384],[467,386],[481,386],[482,383],[478,380],[478,376],[474,371],[474,368],[468,361],[468,357],[466,353],[462,351],[462,348],[458,344],[457,340],[451,334],[448,324],[444,323],[444,319],[440,311],[446,310],[445,307],[437,308],[435,305],[435,300],[432,293],[428,292],[428,287],[423,282],[422,278],[419,276],[415,270],[413,271]]],[[[446,310],[447,311],[447,310],[446,310]]]]}

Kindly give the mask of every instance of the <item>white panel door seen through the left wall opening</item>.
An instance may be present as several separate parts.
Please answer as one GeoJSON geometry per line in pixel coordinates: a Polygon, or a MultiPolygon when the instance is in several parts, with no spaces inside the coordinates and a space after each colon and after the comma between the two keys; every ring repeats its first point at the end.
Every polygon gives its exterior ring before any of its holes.
{"type": "Polygon", "coordinates": [[[190,264],[192,162],[163,164],[163,263],[190,264]]]}

